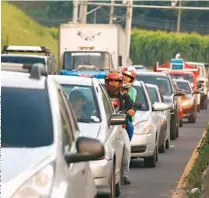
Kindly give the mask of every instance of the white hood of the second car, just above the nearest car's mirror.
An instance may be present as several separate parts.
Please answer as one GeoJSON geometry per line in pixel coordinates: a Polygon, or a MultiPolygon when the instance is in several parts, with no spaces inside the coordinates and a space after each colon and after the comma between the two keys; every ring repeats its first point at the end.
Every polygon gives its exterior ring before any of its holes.
{"type": "Polygon", "coordinates": [[[100,123],[78,123],[81,136],[98,138],[101,129],[100,123]]]}

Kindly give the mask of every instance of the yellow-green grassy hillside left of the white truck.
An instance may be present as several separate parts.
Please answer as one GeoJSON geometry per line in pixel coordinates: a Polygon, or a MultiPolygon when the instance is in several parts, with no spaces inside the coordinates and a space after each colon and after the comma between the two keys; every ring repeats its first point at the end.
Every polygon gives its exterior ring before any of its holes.
{"type": "Polygon", "coordinates": [[[2,2],[2,46],[40,45],[47,46],[58,56],[57,29],[46,28],[33,21],[14,5],[2,2]]]}

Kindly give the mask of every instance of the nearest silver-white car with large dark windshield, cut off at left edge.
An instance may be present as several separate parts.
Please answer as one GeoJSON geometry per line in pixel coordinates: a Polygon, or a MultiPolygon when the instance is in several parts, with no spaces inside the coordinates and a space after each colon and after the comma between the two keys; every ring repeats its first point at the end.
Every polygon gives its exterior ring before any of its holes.
{"type": "Polygon", "coordinates": [[[104,146],[78,136],[64,92],[39,69],[32,67],[30,75],[1,72],[1,197],[93,198],[96,188],[85,161],[102,158],[104,146]]]}

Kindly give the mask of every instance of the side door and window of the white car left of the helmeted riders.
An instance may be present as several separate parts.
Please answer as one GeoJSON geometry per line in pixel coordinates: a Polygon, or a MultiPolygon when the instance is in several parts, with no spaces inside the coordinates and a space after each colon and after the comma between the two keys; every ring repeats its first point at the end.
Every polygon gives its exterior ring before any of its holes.
{"type": "Polygon", "coordinates": [[[114,110],[110,101],[110,98],[105,91],[105,89],[102,87],[102,85],[99,86],[99,89],[101,91],[102,95],[102,101],[105,107],[105,112],[107,115],[107,123],[108,123],[108,130],[109,130],[109,142],[111,146],[114,148],[115,155],[116,155],[116,177],[117,181],[119,181],[119,173],[121,169],[122,164],[122,155],[123,155],[123,136],[122,136],[122,127],[120,125],[111,126],[109,124],[109,120],[111,118],[111,115],[113,114],[114,110]]]}

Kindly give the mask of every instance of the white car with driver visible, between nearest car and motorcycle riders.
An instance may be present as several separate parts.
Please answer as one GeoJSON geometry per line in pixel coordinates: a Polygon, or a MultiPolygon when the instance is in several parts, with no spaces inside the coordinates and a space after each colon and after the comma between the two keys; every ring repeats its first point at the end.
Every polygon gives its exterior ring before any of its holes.
{"type": "Polygon", "coordinates": [[[124,151],[124,129],[121,125],[125,123],[125,115],[114,114],[109,96],[98,79],[64,75],[51,77],[65,90],[77,115],[81,135],[97,138],[105,145],[105,157],[90,163],[98,194],[119,196],[124,151]],[[78,93],[82,100],[75,97],[78,93]],[[76,100],[80,101],[80,106],[76,100]],[[79,110],[81,106],[82,110],[79,110]]]}

